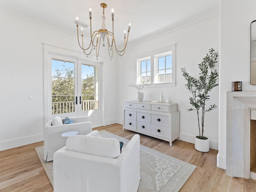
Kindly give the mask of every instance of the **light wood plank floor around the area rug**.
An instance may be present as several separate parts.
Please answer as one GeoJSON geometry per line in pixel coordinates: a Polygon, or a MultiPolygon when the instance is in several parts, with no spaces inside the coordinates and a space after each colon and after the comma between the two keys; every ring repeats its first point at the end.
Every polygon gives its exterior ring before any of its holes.
{"type": "MultiPolygon", "coordinates": [[[[95,128],[116,135],[132,138],[135,132],[122,130],[122,125],[113,124],[95,128]]],[[[194,164],[196,170],[180,192],[256,192],[256,181],[226,176],[226,170],[216,166],[218,151],[198,152],[194,144],[175,140],[169,143],[140,134],[140,143],[182,161],[194,164]]],[[[53,192],[52,185],[44,172],[34,148],[37,142],[0,152],[0,192],[53,192]]]]}

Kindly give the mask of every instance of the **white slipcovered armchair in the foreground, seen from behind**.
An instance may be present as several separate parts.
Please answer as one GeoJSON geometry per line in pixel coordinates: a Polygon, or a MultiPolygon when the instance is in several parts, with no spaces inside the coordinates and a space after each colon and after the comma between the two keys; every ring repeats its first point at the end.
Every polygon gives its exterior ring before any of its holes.
{"type": "Polygon", "coordinates": [[[54,153],[54,192],[137,192],[140,136],[134,135],[121,153],[117,140],[106,139],[110,138],[67,139],[67,145],[54,153]]]}

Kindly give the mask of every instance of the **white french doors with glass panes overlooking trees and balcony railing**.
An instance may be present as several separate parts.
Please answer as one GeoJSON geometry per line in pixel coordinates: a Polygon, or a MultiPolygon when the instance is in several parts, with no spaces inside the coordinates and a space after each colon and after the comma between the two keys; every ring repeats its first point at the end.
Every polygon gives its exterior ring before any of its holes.
{"type": "Polygon", "coordinates": [[[48,54],[48,114],[88,116],[101,125],[100,64],[55,54],[48,54]]]}

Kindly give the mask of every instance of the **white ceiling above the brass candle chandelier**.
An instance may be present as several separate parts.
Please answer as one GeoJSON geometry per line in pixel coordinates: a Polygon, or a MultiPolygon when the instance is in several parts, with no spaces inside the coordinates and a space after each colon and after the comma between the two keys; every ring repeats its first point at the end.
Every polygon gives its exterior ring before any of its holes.
{"type": "MultiPolygon", "coordinates": [[[[135,40],[219,6],[219,0],[0,0],[0,9],[76,34],[76,17],[90,25],[89,8],[92,30],[100,29],[102,2],[108,5],[106,28],[112,31],[113,8],[115,38],[122,42],[129,23],[129,40],[135,40]]],[[[90,28],[84,29],[84,36],[89,34],[90,28]]]]}

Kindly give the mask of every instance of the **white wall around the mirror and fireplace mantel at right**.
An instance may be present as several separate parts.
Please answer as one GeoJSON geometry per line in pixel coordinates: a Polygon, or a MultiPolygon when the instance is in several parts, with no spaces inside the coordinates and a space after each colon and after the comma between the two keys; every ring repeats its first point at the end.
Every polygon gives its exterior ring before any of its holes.
{"type": "MultiPolygon", "coordinates": [[[[242,90],[250,84],[250,23],[256,20],[256,1],[220,0],[220,124],[217,165],[226,169],[226,92],[233,81],[242,90]]],[[[249,138],[248,138],[249,139],[249,138]]]]}

